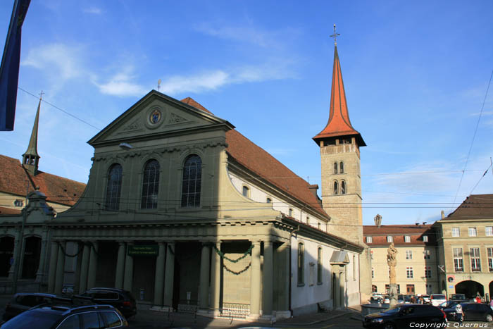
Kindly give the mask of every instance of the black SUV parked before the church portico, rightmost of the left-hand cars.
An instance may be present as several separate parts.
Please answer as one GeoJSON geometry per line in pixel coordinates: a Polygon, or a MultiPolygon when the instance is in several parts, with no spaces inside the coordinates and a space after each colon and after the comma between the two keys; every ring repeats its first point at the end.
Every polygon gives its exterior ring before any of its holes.
{"type": "Polygon", "coordinates": [[[103,287],[92,288],[80,294],[80,296],[89,297],[96,304],[112,305],[120,310],[125,318],[131,318],[137,314],[135,298],[127,290],[103,287]]]}

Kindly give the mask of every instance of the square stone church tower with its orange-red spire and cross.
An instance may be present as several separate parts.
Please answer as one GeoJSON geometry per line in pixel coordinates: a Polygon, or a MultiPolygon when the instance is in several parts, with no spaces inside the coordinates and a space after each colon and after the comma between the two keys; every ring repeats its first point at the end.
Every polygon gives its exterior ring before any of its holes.
{"type": "MultiPolygon", "coordinates": [[[[331,37],[336,38],[337,35],[334,31],[331,37]]],[[[331,217],[330,232],[352,242],[362,243],[359,148],[366,144],[349,120],[341,64],[337,54],[337,41],[334,51],[329,120],[313,140],[320,147],[322,202],[323,209],[331,217]]]]}

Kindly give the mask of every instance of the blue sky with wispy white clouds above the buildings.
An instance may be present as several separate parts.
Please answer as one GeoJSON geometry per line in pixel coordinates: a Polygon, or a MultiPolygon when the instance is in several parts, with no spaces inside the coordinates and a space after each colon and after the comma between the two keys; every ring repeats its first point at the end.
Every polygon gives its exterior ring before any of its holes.
{"type": "MultiPolygon", "coordinates": [[[[0,1],[0,36],[12,6],[0,1]]],[[[493,192],[491,169],[480,180],[493,156],[491,89],[480,116],[492,13],[492,1],[32,0],[19,87],[90,124],[42,104],[40,170],[55,175],[87,182],[87,140],[161,79],[161,92],[194,98],[320,185],[311,138],[329,115],[336,23],[351,123],[368,145],[363,223],[431,223],[493,192]]],[[[21,158],[36,108],[19,90],[1,154],[21,158]]]]}

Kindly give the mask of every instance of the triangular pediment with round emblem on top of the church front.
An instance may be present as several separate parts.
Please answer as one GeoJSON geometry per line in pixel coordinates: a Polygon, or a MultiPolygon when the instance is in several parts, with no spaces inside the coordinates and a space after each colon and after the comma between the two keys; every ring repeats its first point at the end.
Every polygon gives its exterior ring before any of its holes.
{"type": "Polygon", "coordinates": [[[88,143],[94,146],[215,128],[218,125],[224,125],[226,130],[234,128],[226,120],[211,113],[152,90],[92,137],[88,143]]]}

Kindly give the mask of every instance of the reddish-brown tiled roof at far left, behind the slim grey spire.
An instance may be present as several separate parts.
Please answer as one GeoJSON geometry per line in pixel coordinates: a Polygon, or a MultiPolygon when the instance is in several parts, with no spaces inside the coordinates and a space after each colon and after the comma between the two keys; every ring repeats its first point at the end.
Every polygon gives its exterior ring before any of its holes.
{"type": "Polygon", "coordinates": [[[25,197],[26,182],[29,180],[29,192],[35,191],[35,187],[39,187],[39,191],[46,195],[46,201],[73,206],[86,187],[82,182],[42,171],[38,171],[35,176],[30,175],[18,159],[9,156],[0,155],[0,168],[2,168],[0,192],[16,194],[20,197],[25,197]]]}

